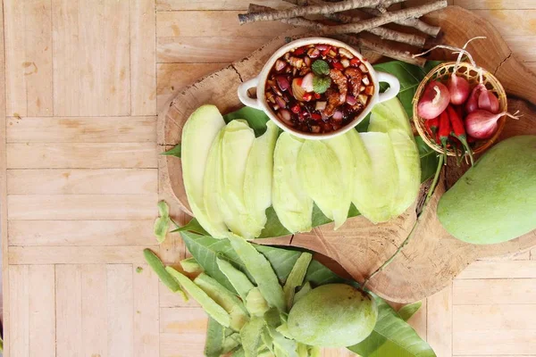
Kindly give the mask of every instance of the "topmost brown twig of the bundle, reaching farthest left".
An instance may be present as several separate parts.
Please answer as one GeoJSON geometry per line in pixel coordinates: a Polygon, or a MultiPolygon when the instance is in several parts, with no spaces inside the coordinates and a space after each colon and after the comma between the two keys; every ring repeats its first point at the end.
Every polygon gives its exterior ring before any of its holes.
{"type": "Polygon", "coordinates": [[[382,4],[384,1],[389,3],[401,3],[406,0],[345,0],[339,3],[312,5],[304,7],[293,7],[287,10],[271,11],[271,12],[252,12],[252,13],[240,13],[239,22],[243,25],[248,22],[255,21],[276,21],[282,19],[289,19],[293,17],[324,14],[331,12],[344,12],[360,7],[374,7],[382,4]]]}

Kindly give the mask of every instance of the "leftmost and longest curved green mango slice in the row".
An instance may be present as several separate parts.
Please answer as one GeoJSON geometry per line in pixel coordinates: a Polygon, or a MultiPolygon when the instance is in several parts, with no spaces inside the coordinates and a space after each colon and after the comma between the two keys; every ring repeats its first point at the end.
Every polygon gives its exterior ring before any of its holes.
{"type": "Polygon", "coordinates": [[[218,237],[226,230],[222,220],[210,220],[204,203],[204,179],[208,154],[215,137],[225,126],[222,114],[214,105],[202,105],[193,112],[182,129],[181,166],[184,189],[194,216],[207,232],[218,237]]]}

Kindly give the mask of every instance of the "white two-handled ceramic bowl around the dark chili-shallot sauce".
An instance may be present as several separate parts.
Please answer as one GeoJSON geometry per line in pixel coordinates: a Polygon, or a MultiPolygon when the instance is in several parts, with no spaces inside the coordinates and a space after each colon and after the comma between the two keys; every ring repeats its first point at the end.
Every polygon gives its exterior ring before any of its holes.
{"type": "Polygon", "coordinates": [[[364,117],[366,117],[366,115],[369,112],[371,112],[375,104],[385,102],[386,100],[389,100],[395,97],[396,95],[398,95],[399,90],[400,90],[400,82],[398,82],[398,79],[395,76],[389,73],[374,71],[373,66],[368,61],[364,61],[363,55],[358,53],[353,47],[348,46],[344,42],[340,42],[331,38],[306,37],[306,38],[297,39],[296,41],[292,41],[289,44],[282,46],[279,50],[277,50],[274,54],[272,54],[272,57],[270,57],[270,59],[264,64],[263,70],[259,73],[257,77],[255,77],[254,79],[249,79],[239,86],[239,99],[243,104],[247,106],[264,111],[266,115],[268,115],[268,117],[271,120],[273,120],[281,129],[285,131],[289,131],[289,133],[292,133],[296,137],[303,137],[306,139],[325,139],[328,137],[336,137],[338,135],[346,133],[349,129],[355,128],[356,125],[359,124],[361,120],[364,120],[364,117]],[[370,77],[374,85],[374,94],[372,95],[372,98],[369,100],[369,103],[364,108],[364,111],[361,112],[358,116],[356,116],[356,118],[350,121],[346,126],[336,131],[332,131],[330,133],[314,134],[314,133],[305,133],[303,131],[299,131],[297,129],[289,127],[287,124],[282,122],[277,117],[277,115],[275,115],[275,113],[272,111],[272,108],[270,108],[270,106],[266,103],[266,100],[264,97],[264,85],[268,77],[268,74],[270,73],[270,70],[272,70],[273,64],[283,54],[286,54],[293,48],[307,46],[307,45],[319,45],[319,44],[326,44],[326,45],[346,48],[348,51],[354,54],[357,58],[359,58],[359,60],[361,60],[361,62],[363,62],[366,65],[369,71],[370,77]],[[389,89],[385,91],[384,93],[380,93],[380,82],[387,82],[389,84],[389,89]],[[247,90],[253,87],[256,87],[256,96],[257,96],[256,99],[250,98],[249,95],[247,95],[247,90]]]}

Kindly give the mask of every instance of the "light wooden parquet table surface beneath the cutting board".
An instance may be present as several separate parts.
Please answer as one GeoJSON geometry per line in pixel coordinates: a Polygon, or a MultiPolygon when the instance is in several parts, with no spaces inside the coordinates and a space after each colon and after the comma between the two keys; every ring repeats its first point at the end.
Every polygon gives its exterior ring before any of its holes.
{"type": "MultiPolygon", "coordinates": [[[[4,355],[202,355],[205,313],[170,294],[141,254],[186,254],[152,236],[155,121],[173,91],[289,29],[239,27],[248,3],[4,0],[4,355]]],[[[454,4],[490,19],[536,70],[535,0],[454,4]]],[[[536,356],[536,250],[473,263],[411,323],[440,357],[536,356]]]]}

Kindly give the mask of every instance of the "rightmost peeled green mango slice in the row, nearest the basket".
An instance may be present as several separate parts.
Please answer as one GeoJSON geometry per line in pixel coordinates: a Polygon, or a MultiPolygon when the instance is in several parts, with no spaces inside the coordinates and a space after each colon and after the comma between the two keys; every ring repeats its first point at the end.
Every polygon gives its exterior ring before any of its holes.
{"type": "Polygon", "coordinates": [[[398,193],[390,209],[391,217],[397,217],[411,206],[421,188],[421,158],[415,140],[401,129],[389,130],[389,138],[395,150],[398,167],[398,193]]]}

